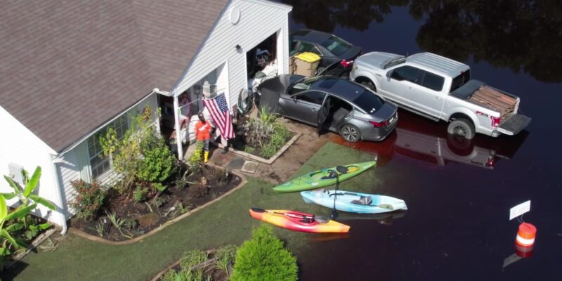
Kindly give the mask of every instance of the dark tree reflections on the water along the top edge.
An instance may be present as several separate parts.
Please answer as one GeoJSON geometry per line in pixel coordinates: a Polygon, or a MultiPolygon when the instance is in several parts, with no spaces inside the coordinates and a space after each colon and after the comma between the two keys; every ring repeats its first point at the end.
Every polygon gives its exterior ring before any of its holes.
{"type": "Polygon", "coordinates": [[[425,20],[416,37],[424,51],[462,62],[484,60],[540,81],[562,82],[562,5],[557,0],[284,2],[294,7],[295,22],[325,32],[335,27],[364,31],[373,20],[384,21],[393,6],[408,6],[413,18],[425,20]]]}

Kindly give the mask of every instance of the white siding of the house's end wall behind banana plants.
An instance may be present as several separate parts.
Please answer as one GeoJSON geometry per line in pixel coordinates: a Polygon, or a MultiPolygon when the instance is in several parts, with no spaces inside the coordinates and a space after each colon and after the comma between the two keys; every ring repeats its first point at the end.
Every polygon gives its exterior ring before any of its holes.
{"type": "MultiPolygon", "coordinates": [[[[30,130],[23,126],[10,113],[0,107],[0,174],[8,175],[8,164],[15,163],[26,169],[30,176],[37,166],[41,166],[41,178],[39,187],[36,192],[51,202],[57,204],[58,184],[56,183],[56,175],[54,173],[53,162],[51,162],[51,154],[54,151],[34,135],[30,130]]],[[[11,192],[4,177],[1,178],[0,192],[11,192]]],[[[11,200],[8,204],[14,204],[16,201],[11,200]]],[[[59,206],[62,207],[62,206],[59,206]]],[[[36,214],[48,218],[49,221],[61,225],[61,217],[54,214],[48,215],[48,209],[40,207],[36,214]]]]}

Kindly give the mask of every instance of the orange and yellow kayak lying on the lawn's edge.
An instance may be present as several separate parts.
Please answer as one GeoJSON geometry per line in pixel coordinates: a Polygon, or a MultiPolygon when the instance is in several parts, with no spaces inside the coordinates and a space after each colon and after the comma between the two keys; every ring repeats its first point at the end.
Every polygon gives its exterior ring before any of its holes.
{"type": "Polygon", "coordinates": [[[249,209],[250,216],[281,228],[305,233],[347,233],[349,226],[313,214],[289,210],[249,209]]]}

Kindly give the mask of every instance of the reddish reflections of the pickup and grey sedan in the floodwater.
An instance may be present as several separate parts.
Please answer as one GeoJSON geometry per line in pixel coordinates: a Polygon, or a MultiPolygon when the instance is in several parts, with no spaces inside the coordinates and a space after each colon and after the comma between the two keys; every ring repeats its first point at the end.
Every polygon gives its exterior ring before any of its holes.
{"type": "Polygon", "coordinates": [[[339,136],[331,141],[377,156],[377,166],[384,166],[395,153],[421,162],[445,166],[450,162],[494,169],[502,159],[514,157],[528,136],[522,131],[516,136],[476,136],[471,141],[447,134],[444,122],[434,123],[400,110],[396,133],[380,143],[348,143],[339,136]]]}

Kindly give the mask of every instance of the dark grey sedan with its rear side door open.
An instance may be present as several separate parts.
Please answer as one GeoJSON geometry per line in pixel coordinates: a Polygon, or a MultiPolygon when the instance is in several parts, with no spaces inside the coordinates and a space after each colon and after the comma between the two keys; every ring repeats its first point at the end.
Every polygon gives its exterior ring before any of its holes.
{"type": "Polygon", "coordinates": [[[285,74],[258,87],[271,112],[339,133],[346,141],[382,141],[398,124],[396,105],[348,79],[285,74]]]}

